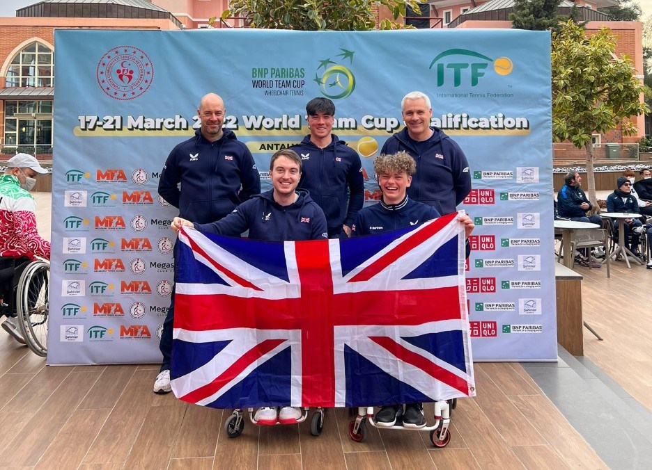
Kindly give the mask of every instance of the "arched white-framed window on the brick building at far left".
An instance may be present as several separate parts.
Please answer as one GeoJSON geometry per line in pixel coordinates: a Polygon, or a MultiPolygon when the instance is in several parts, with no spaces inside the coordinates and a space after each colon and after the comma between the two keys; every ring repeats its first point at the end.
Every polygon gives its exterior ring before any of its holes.
{"type": "Polygon", "coordinates": [[[40,42],[32,42],[11,61],[6,86],[54,86],[54,54],[40,42]]]}

